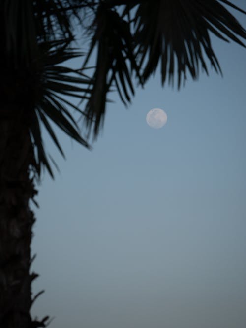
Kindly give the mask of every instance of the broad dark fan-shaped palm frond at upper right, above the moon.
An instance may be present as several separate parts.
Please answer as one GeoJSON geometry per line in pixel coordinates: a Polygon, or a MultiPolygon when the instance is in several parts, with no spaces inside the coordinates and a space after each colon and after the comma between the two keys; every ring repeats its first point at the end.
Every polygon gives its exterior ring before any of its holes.
{"type": "MultiPolygon", "coordinates": [[[[244,12],[229,1],[220,1],[244,12]]],[[[208,74],[206,57],[216,72],[221,72],[209,32],[242,46],[238,36],[246,38],[243,27],[217,0],[142,0],[133,21],[143,80],[149,78],[160,61],[162,84],[167,76],[173,83],[176,70],[178,87],[182,75],[186,79],[186,69],[193,79],[198,77],[199,65],[208,74]]]]}

